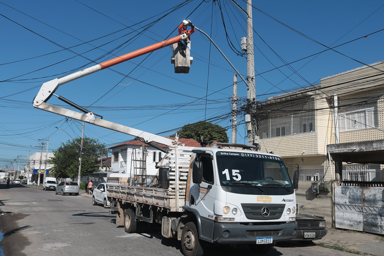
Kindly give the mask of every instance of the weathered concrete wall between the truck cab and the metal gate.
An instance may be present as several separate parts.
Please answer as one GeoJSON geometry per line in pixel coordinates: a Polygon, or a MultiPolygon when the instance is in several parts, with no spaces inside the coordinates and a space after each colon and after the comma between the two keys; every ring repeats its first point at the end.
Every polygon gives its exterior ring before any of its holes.
{"type": "Polygon", "coordinates": [[[316,196],[311,192],[312,182],[313,181],[299,181],[299,188],[296,191],[299,213],[324,216],[327,221],[327,226],[331,227],[333,222],[333,195],[331,192],[320,192],[320,194],[316,196]]]}

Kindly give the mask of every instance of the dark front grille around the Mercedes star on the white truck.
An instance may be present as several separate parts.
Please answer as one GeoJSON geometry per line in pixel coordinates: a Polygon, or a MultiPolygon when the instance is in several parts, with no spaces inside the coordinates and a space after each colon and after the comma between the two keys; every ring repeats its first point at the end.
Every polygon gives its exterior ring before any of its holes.
{"type": "Polygon", "coordinates": [[[241,204],[244,214],[248,219],[266,220],[266,219],[280,219],[284,212],[285,204],[241,204]],[[267,207],[269,210],[268,217],[262,216],[262,209],[267,207]]]}

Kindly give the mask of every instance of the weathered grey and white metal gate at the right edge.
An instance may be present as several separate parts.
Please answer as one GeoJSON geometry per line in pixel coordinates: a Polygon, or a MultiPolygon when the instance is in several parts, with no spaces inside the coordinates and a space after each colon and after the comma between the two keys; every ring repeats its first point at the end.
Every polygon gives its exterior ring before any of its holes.
{"type": "Polygon", "coordinates": [[[384,234],[382,182],[343,182],[335,186],[335,227],[384,234]]]}

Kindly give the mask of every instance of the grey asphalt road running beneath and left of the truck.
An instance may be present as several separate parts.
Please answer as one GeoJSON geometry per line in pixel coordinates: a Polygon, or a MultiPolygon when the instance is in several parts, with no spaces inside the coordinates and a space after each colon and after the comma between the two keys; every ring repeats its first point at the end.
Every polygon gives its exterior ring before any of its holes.
{"type": "MultiPolygon", "coordinates": [[[[0,216],[5,256],[56,255],[182,255],[180,241],[163,238],[160,227],[142,226],[140,233],[127,234],[115,225],[116,215],[87,197],[55,195],[35,185],[0,184],[0,208],[11,212],[0,216]]],[[[205,255],[260,255],[248,246],[209,248],[205,255]]],[[[270,256],[351,256],[354,254],[295,241],[279,243],[270,256]]]]}

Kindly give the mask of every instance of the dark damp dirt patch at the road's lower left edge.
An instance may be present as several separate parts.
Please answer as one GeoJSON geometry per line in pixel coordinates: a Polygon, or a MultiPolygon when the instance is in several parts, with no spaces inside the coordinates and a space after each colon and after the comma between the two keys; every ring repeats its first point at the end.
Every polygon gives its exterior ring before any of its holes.
{"type": "Polygon", "coordinates": [[[0,231],[3,233],[3,240],[0,246],[5,255],[26,256],[23,249],[30,245],[30,241],[19,231],[28,228],[28,226],[19,227],[17,221],[23,219],[28,214],[8,213],[0,215],[0,231]]]}

